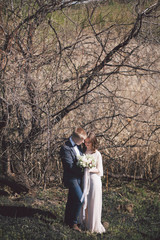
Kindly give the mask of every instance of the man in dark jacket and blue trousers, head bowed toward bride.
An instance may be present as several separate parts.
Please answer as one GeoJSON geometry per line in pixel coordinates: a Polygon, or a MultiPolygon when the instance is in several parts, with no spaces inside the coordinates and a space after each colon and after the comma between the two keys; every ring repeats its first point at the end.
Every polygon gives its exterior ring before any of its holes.
{"type": "Polygon", "coordinates": [[[87,134],[84,129],[81,127],[76,128],[60,150],[64,170],[63,182],[64,186],[69,189],[64,221],[70,228],[77,231],[81,231],[77,226],[77,219],[83,204],[81,202],[83,172],[77,166],[77,157],[78,155],[82,155],[80,145],[86,138],[87,134]]]}

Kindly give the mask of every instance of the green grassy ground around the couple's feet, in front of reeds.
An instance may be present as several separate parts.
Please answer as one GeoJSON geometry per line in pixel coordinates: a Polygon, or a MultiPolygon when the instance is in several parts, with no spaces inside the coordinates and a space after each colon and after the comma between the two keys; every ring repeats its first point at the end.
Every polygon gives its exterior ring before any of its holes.
{"type": "Polygon", "coordinates": [[[103,189],[102,222],[109,222],[103,235],[77,233],[63,225],[67,190],[56,185],[33,195],[1,197],[1,205],[30,206],[47,210],[56,219],[36,214],[11,218],[0,215],[1,240],[106,239],[158,240],[160,236],[160,201],[157,187],[135,182],[111,184],[103,189]],[[154,188],[153,188],[154,187],[154,188]]]}

